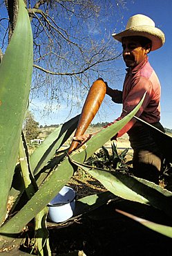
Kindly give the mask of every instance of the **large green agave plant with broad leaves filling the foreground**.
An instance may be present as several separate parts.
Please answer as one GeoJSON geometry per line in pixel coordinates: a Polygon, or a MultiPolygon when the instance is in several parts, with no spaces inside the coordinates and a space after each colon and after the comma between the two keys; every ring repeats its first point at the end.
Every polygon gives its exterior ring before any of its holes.
{"type": "MultiPolygon", "coordinates": [[[[67,151],[57,153],[76,129],[79,116],[55,129],[29,157],[22,123],[32,77],[32,30],[23,0],[18,1],[17,25],[0,66],[1,251],[12,250],[15,253],[15,250],[19,250],[21,234],[27,232],[26,226],[34,221],[34,253],[51,255],[46,228],[47,205],[68,183],[78,166],[93,175],[111,192],[79,199],[85,205],[83,212],[105,203],[110,194],[114,194],[123,199],[153,205],[171,215],[171,192],[134,176],[84,165],[97,149],[133,118],[144,98],[125,118],[103,129],[70,156],[67,151]],[[7,210],[9,198],[13,201],[10,212],[7,210]]],[[[164,235],[171,237],[171,227],[168,227],[168,232],[166,226],[162,229],[164,235]]],[[[160,229],[157,232],[161,232],[160,229]]],[[[22,252],[18,254],[22,255],[22,252]]]]}

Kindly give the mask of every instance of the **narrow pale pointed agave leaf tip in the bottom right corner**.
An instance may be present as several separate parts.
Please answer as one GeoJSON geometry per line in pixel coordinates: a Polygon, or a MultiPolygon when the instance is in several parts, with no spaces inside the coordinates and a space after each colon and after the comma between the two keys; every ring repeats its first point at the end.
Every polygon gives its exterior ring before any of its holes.
{"type": "Polygon", "coordinates": [[[146,226],[147,228],[150,228],[151,230],[159,232],[162,235],[166,235],[166,237],[171,237],[172,238],[172,227],[157,224],[157,223],[154,223],[152,221],[147,221],[146,219],[136,217],[135,215],[129,214],[129,213],[124,212],[122,210],[117,210],[116,209],[116,211],[120,212],[121,214],[123,214],[123,215],[125,215],[125,216],[127,216],[131,219],[133,219],[134,221],[139,222],[140,224],[146,226]]]}

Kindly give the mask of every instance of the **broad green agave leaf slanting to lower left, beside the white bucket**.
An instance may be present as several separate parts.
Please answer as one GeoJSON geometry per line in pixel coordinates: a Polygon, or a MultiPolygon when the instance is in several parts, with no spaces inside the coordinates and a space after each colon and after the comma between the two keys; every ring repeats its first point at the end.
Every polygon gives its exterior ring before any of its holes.
{"type": "Polygon", "coordinates": [[[32,196],[26,205],[6,221],[0,228],[1,235],[18,234],[22,228],[33,219],[56,196],[61,188],[66,185],[73,176],[73,166],[66,158],[50,174],[49,179],[41,185],[41,188],[32,196]]]}

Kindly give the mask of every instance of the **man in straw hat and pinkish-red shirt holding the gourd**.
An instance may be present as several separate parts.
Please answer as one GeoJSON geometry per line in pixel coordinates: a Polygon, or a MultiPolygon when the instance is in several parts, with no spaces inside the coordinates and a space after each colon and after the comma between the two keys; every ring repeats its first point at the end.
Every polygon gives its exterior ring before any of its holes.
{"type": "MultiPolygon", "coordinates": [[[[113,37],[122,42],[123,58],[128,67],[123,91],[113,90],[106,84],[106,93],[114,102],[123,104],[122,114],[117,120],[130,113],[146,92],[142,107],[136,116],[164,131],[160,124],[160,82],[147,56],[149,52],[164,44],[164,33],[155,28],[153,20],[149,17],[134,15],[128,20],[126,30],[113,34],[113,37]]],[[[133,148],[135,176],[158,184],[162,154],[151,132],[141,122],[132,118],[114,138],[125,133],[128,133],[133,148]]]]}

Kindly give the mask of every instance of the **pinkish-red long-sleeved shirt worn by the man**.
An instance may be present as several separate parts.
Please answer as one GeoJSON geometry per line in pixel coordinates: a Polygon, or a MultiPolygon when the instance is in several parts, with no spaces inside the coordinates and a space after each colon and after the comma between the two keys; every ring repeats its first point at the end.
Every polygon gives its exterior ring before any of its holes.
{"type": "MultiPolygon", "coordinates": [[[[127,113],[130,113],[135,106],[140,102],[144,93],[146,97],[137,111],[136,116],[150,124],[160,121],[160,81],[149,64],[148,57],[135,66],[134,68],[126,69],[126,77],[124,80],[122,93],[122,114],[117,120],[124,118],[127,113]],[[125,111],[127,111],[127,113],[125,111]]],[[[116,121],[116,120],[115,120],[116,121]]],[[[117,137],[125,134],[131,127],[140,125],[135,118],[132,118],[117,134],[117,137]]]]}

